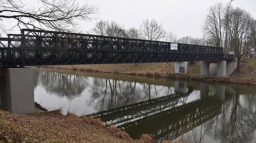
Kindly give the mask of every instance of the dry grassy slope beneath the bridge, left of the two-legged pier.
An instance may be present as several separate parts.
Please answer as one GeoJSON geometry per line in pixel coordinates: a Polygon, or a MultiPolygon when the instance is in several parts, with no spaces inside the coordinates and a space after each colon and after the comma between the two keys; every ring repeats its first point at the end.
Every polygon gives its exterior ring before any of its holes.
{"type": "MultiPolygon", "coordinates": [[[[96,71],[106,73],[135,75],[166,75],[174,73],[174,63],[138,63],[138,64],[96,64],[96,65],[62,65],[43,66],[54,69],[96,71]]],[[[188,64],[188,74],[200,74],[200,63],[188,64]]]]}

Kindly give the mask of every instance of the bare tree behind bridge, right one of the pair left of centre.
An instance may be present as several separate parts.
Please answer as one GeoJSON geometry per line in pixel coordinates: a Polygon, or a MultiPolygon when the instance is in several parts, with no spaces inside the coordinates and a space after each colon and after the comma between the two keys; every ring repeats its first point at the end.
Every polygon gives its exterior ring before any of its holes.
{"type": "Polygon", "coordinates": [[[111,21],[110,23],[106,22],[106,35],[107,36],[114,36],[118,37],[118,32],[120,29],[123,29],[123,27],[119,24],[117,24],[114,21],[111,21]]]}

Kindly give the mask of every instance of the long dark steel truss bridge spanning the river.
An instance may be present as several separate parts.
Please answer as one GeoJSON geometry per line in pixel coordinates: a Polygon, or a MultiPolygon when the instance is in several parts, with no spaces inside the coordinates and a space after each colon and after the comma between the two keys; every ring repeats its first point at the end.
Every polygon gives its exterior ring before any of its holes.
{"type": "Polygon", "coordinates": [[[0,38],[0,67],[233,60],[223,48],[21,29],[0,38]]]}

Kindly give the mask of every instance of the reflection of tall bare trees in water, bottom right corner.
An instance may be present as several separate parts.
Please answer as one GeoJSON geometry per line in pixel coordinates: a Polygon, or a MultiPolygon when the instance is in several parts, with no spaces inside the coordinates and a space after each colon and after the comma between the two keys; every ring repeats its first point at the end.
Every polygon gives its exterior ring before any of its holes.
{"type": "Polygon", "coordinates": [[[207,132],[208,136],[222,143],[255,143],[256,93],[246,92],[248,90],[250,88],[236,89],[236,94],[224,101],[222,113],[207,132]]]}

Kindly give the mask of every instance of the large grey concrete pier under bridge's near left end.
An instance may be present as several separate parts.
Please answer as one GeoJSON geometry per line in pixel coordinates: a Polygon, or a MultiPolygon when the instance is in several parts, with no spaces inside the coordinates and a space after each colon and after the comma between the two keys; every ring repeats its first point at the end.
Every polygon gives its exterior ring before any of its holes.
{"type": "Polygon", "coordinates": [[[35,112],[32,69],[0,68],[0,105],[15,114],[35,112]]]}

